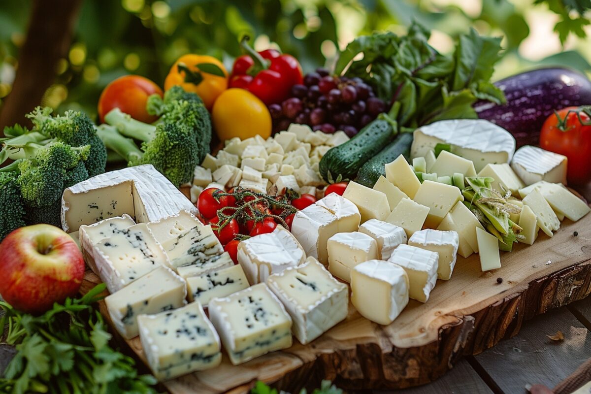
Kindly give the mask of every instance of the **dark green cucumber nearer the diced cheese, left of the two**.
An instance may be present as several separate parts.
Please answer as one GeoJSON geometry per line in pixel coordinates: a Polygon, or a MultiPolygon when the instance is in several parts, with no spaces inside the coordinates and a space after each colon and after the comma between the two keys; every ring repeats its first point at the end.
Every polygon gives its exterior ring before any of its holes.
{"type": "Polygon", "coordinates": [[[353,180],[363,163],[375,157],[384,146],[392,142],[395,132],[391,121],[384,118],[382,115],[378,116],[378,119],[361,129],[345,144],[326,152],[319,165],[320,175],[325,181],[333,183],[353,180]]]}

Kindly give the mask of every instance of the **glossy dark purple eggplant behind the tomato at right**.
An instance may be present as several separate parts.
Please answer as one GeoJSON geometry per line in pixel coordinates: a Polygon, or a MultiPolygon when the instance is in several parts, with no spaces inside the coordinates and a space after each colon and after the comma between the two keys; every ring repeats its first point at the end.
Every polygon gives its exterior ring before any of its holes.
{"type": "Polygon", "coordinates": [[[544,121],[554,110],[569,106],[591,105],[591,82],[571,69],[552,67],[526,71],[496,82],[505,92],[507,103],[477,102],[474,109],[507,129],[517,146],[538,145],[544,121]]]}

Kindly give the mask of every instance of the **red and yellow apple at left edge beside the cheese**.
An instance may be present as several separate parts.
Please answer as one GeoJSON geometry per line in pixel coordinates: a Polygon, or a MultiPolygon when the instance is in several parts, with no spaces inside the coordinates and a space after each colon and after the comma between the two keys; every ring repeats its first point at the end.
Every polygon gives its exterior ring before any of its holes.
{"type": "Polygon", "coordinates": [[[21,227],[0,243],[0,294],[17,310],[40,314],[73,297],[84,271],[74,240],[49,224],[21,227]]]}

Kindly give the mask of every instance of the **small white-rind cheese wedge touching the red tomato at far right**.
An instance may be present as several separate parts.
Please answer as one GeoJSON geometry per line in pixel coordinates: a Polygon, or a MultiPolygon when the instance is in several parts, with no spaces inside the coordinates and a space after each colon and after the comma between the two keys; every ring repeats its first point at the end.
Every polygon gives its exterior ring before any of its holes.
{"type": "Polygon", "coordinates": [[[567,158],[537,146],[525,145],[515,151],[511,168],[526,185],[539,181],[566,184],[567,158]]]}

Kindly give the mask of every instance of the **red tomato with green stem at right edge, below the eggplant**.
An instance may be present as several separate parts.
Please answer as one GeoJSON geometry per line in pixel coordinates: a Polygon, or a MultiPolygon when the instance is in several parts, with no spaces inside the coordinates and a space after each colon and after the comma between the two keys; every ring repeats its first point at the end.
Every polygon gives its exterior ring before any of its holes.
{"type": "Polygon", "coordinates": [[[540,133],[540,146],[569,158],[569,183],[591,180],[591,119],[583,108],[567,107],[548,116],[540,133]]]}

